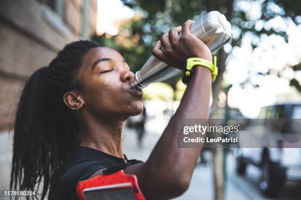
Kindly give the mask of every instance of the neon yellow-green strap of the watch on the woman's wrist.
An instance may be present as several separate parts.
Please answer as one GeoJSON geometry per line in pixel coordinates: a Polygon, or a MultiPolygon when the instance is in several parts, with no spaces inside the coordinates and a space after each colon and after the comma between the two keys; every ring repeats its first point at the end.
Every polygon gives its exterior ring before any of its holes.
{"type": "MultiPolygon", "coordinates": [[[[212,82],[215,80],[217,75],[217,67],[216,67],[216,56],[213,57],[213,64],[203,58],[188,58],[187,59],[187,65],[186,65],[186,72],[189,72],[192,70],[193,66],[195,65],[201,65],[204,67],[207,67],[212,71],[212,82]]],[[[185,73],[186,76],[189,76],[191,73],[185,73]]]]}

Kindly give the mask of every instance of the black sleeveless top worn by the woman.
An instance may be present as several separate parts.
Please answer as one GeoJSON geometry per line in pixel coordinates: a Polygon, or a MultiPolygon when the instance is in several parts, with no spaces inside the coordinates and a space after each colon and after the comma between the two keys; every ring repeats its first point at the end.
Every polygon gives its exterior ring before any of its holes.
{"type": "Polygon", "coordinates": [[[141,161],[128,160],[95,150],[89,147],[78,147],[51,177],[48,200],[76,200],[76,185],[88,179],[100,169],[123,169],[141,161]]]}

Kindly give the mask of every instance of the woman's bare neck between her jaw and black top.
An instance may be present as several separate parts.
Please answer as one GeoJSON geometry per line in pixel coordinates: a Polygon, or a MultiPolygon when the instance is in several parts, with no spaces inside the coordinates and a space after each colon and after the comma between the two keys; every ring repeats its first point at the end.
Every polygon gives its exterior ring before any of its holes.
{"type": "Polygon", "coordinates": [[[114,117],[84,118],[80,124],[79,146],[90,147],[124,158],[122,149],[122,119],[114,117]]]}

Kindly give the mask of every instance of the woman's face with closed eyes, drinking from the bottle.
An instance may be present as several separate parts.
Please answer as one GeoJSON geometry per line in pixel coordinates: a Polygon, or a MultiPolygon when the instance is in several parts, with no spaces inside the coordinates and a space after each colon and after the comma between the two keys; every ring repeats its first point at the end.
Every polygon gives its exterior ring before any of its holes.
{"type": "Polygon", "coordinates": [[[102,117],[140,114],[143,92],[131,88],[133,75],[118,51],[105,47],[90,50],[77,76],[85,109],[102,117]]]}

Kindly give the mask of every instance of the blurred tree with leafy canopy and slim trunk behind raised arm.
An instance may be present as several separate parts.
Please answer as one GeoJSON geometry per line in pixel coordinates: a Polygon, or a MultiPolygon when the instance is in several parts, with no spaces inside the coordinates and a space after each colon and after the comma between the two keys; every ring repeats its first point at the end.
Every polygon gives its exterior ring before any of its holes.
{"type": "MultiPolygon", "coordinates": [[[[252,34],[254,40],[252,48],[256,48],[262,35],[276,34],[287,41],[288,36],[284,30],[273,27],[256,27],[259,21],[265,25],[275,17],[290,18],[296,24],[301,23],[301,0],[123,0],[124,4],[137,13],[133,19],[124,23],[120,27],[119,34],[107,38],[94,36],[93,39],[106,47],[112,47],[124,56],[132,71],[139,70],[151,55],[151,49],[159,37],[167,32],[171,27],[181,25],[187,19],[198,19],[212,10],[218,10],[224,14],[231,22],[236,36],[232,39],[231,46],[240,47],[241,40],[245,34],[252,34]],[[252,18],[243,8],[241,2],[259,2],[261,14],[258,18],[252,18]],[[257,41],[257,42],[256,42],[257,41]]],[[[218,75],[212,84],[212,107],[211,113],[214,118],[217,113],[218,94],[221,90],[221,81],[226,70],[226,61],[230,52],[225,52],[223,48],[216,52],[218,75]]],[[[294,66],[294,70],[301,70],[301,64],[294,66]]],[[[175,89],[180,76],[173,77],[166,82],[175,89]]],[[[248,82],[246,80],[245,82],[248,82]]],[[[298,80],[292,79],[291,85],[301,91],[298,80]]],[[[223,170],[222,152],[214,150],[214,180],[215,199],[222,200],[223,196],[223,170]]]]}

